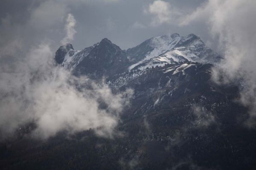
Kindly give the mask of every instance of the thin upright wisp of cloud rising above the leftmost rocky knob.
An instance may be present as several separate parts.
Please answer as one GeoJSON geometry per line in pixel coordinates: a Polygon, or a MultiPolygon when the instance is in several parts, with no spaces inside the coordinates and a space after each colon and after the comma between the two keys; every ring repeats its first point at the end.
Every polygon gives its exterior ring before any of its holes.
{"type": "Polygon", "coordinates": [[[74,16],[72,14],[68,14],[67,15],[67,20],[66,20],[66,26],[65,26],[65,30],[66,30],[66,37],[64,37],[61,40],[61,43],[67,44],[68,42],[71,42],[74,40],[74,35],[76,34],[76,30],[75,30],[75,26],[76,26],[76,20],[74,18],[74,16]]]}

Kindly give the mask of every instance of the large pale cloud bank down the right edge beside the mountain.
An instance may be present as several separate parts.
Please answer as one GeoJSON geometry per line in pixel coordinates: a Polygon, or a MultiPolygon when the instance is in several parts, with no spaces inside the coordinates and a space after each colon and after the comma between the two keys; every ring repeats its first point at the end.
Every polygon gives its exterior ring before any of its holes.
{"type": "Polygon", "coordinates": [[[249,107],[246,125],[256,125],[256,1],[208,0],[191,14],[183,16],[180,26],[204,22],[219,41],[225,59],[215,68],[213,78],[218,83],[240,84],[240,102],[249,107]],[[220,79],[220,77],[222,77],[220,79]]]}

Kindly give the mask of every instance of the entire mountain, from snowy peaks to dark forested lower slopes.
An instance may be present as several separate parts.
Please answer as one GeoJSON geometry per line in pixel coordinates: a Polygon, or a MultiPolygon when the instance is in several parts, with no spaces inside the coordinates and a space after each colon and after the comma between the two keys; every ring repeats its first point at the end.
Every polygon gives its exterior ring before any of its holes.
{"type": "MultiPolygon", "coordinates": [[[[113,93],[134,90],[120,114],[117,136],[95,129],[47,142],[26,138],[0,143],[1,169],[240,170],[255,169],[256,130],[244,121],[239,84],[212,81],[222,59],[194,34],[164,35],[122,50],[108,39],[76,51],[71,44],[55,60],[76,76],[102,79],[113,93]]],[[[104,127],[103,127],[104,128],[104,127]]]]}

